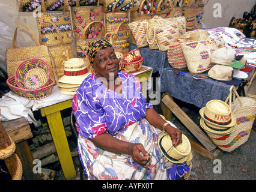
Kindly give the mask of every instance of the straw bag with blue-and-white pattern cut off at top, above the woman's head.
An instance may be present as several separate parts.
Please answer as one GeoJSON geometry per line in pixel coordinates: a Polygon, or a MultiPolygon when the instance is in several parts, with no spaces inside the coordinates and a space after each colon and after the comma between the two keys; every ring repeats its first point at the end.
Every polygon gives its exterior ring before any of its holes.
{"type": "Polygon", "coordinates": [[[104,5],[104,12],[135,11],[139,7],[138,0],[99,0],[104,5]],[[114,9],[113,9],[114,8],[114,9]]]}

